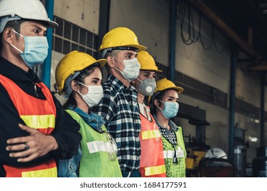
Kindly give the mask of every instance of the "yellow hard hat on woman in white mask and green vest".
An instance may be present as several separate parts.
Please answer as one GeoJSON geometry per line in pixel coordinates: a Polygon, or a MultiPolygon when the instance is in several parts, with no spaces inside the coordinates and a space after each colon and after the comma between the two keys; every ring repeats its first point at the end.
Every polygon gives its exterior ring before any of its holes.
{"type": "Polygon", "coordinates": [[[67,78],[69,78],[68,83],[71,83],[71,80],[78,76],[81,70],[84,70],[94,63],[99,63],[99,67],[102,68],[106,62],[106,59],[96,60],[94,57],[86,53],[78,52],[77,50],[66,54],[55,69],[55,81],[60,94],[62,94],[63,90],[67,95],[72,91],[72,89],[70,89],[71,87],[68,87],[66,90],[66,86],[70,85],[66,85],[67,78]]]}

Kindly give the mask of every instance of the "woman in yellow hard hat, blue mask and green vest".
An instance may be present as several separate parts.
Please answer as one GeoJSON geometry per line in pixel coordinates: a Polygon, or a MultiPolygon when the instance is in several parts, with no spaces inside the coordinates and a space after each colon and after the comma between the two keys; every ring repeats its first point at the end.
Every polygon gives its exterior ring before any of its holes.
{"type": "Polygon", "coordinates": [[[186,177],[186,147],[182,128],[170,120],[179,111],[179,93],[183,92],[183,88],[166,78],[157,80],[156,84],[151,113],[162,136],[166,177],[186,177]]]}

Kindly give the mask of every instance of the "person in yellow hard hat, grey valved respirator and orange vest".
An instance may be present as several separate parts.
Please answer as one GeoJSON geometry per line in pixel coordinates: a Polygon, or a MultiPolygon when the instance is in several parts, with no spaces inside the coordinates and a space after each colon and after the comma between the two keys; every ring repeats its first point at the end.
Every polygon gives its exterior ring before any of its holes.
{"type": "Polygon", "coordinates": [[[149,106],[144,104],[144,97],[153,95],[156,89],[157,65],[147,51],[138,52],[140,74],[134,80],[133,86],[138,90],[138,106],[141,119],[140,131],[140,174],[141,177],[166,177],[162,138],[149,106]]]}

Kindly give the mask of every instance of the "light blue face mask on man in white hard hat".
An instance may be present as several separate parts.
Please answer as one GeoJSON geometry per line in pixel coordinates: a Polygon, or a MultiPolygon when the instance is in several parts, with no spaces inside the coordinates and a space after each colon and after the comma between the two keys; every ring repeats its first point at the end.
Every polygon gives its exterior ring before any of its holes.
{"type": "Polygon", "coordinates": [[[24,53],[13,44],[10,44],[10,46],[20,52],[23,61],[25,61],[29,68],[33,68],[34,66],[43,63],[48,54],[47,38],[45,36],[23,36],[16,31],[14,31],[14,33],[24,38],[24,53]]]}

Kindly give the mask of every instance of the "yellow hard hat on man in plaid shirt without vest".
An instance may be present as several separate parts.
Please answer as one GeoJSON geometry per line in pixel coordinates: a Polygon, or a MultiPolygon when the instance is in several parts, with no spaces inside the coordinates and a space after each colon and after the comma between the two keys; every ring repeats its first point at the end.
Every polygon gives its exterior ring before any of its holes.
{"type": "Polygon", "coordinates": [[[146,46],[138,43],[138,38],[133,31],[127,27],[117,27],[104,35],[99,52],[103,52],[103,56],[105,56],[107,50],[131,50],[130,48],[136,48],[138,51],[147,49],[146,46]]]}

